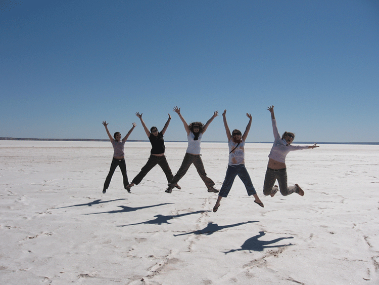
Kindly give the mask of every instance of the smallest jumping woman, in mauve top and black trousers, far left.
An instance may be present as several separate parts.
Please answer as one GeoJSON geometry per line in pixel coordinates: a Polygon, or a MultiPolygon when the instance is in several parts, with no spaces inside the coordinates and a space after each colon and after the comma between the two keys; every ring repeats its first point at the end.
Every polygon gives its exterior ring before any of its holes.
{"type": "MultiPolygon", "coordinates": [[[[113,146],[113,159],[111,163],[111,168],[104,182],[103,193],[107,192],[109,184],[111,183],[113,173],[115,172],[117,167],[120,167],[121,169],[123,182],[124,182],[124,188],[127,189],[127,186],[129,185],[129,181],[128,181],[128,176],[126,175],[124,144],[126,140],[128,139],[129,135],[131,134],[131,132],[134,130],[135,126],[137,125],[133,123],[133,127],[131,127],[130,131],[126,134],[126,136],[122,140],[121,140],[121,134],[119,132],[116,132],[112,138],[111,133],[108,130],[108,123],[106,121],[103,121],[103,125],[105,127],[105,130],[113,146]]],[[[128,192],[130,193],[129,190],[128,192]]]]}

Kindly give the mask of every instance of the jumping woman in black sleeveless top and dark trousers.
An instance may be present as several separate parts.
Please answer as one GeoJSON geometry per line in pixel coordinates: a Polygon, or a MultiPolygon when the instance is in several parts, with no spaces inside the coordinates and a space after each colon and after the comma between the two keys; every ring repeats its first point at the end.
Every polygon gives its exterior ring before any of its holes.
{"type": "MultiPolygon", "coordinates": [[[[166,132],[168,125],[170,124],[170,114],[168,114],[167,122],[161,132],[158,132],[157,127],[152,127],[149,132],[149,129],[146,127],[145,122],[142,119],[142,113],[140,114],[139,112],[136,112],[135,115],[141,120],[141,124],[144,127],[146,135],[148,136],[152,145],[152,149],[150,151],[148,162],[146,162],[146,165],[141,168],[141,171],[137,174],[137,176],[134,177],[132,182],[128,185],[127,190],[130,190],[130,187],[134,185],[138,185],[139,182],[141,182],[141,180],[144,179],[149,171],[151,171],[156,165],[159,165],[162,168],[163,172],[166,175],[167,181],[170,182],[174,176],[172,175],[171,169],[168,166],[168,162],[165,156],[166,147],[163,139],[163,135],[166,132]]],[[[175,187],[180,189],[180,186],[178,184],[176,184],[175,187]]]]}

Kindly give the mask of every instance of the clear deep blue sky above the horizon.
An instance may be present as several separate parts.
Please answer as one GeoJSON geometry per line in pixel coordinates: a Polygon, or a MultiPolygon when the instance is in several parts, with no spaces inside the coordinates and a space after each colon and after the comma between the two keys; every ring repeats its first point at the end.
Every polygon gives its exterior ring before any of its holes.
{"type": "Polygon", "coordinates": [[[147,140],[214,119],[203,141],[379,142],[376,0],[0,1],[0,137],[147,140]]]}

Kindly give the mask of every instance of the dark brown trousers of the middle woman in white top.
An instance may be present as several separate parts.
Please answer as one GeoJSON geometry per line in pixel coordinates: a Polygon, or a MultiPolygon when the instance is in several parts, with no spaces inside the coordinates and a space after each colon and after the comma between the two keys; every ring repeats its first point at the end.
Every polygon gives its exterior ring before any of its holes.
{"type": "Polygon", "coordinates": [[[198,171],[200,178],[203,180],[207,188],[211,188],[215,185],[212,179],[207,177],[207,174],[205,173],[203,160],[201,160],[200,154],[191,154],[191,153],[185,153],[183,162],[181,162],[181,166],[178,170],[178,172],[175,174],[174,178],[171,179],[169,185],[174,187],[176,183],[184,176],[184,174],[187,172],[189,167],[194,164],[196,167],[196,170],[198,171]]]}

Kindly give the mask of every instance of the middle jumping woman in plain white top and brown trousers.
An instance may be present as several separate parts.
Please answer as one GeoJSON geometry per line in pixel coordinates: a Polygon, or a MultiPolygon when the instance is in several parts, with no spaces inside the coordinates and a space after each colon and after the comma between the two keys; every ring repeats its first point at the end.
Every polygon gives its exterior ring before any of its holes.
{"type": "Polygon", "coordinates": [[[200,143],[201,143],[203,134],[207,130],[209,124],[211,124],[213,119],[218,116],[218,111],[214,111],[213,116],[207,121],[205,125],[203,125],[202,123],[198,121],[188,125],[185,119],[180,114],[180,108],[176,106],[174,107],[174,111],[179,115],[179,118],[183,122],[185,132],[187,133],[188,147],[187,147],[183,162],[181,163],[181,166],[178,172],[175,174],[174,178],[169,182],[168,188],[165,192],[171,193],[172,189],[175,187],[175,185],[177,185],[178,181],[185,175],[189,167],[192,164],[194,164],[201,179],[204,181],[205,185],[207,186],[208,192],[217,193],[218,190],[213,188],[215,183],[213,182],[212,179],[207,177],[207,174],[205,173],[203,161],[200,156],[200,149],[201,149],[200,143]]]}

